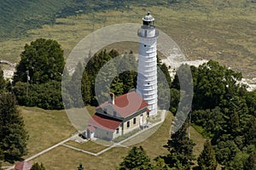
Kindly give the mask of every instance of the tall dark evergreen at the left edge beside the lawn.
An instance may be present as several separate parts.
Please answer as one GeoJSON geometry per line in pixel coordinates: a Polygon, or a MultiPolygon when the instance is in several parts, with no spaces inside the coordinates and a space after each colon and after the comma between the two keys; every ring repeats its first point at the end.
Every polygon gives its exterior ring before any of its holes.
{"type": "Polygon", "coordinates": [[[0,132],[5,160],[12,161],[26,155],[28,135],[13,94],[0,95],[0,132]]]}

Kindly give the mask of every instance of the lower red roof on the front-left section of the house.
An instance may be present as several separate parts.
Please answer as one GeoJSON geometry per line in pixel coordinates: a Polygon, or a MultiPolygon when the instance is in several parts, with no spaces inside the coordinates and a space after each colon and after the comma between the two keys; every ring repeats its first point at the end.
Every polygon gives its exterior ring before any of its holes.
{"type": "Polygon", "coordinates": [[[117,127],[119,127],[121,122],[118,121],[118,120],[115,120],[113,118],[110,118],[108,116],[103,116],[103,115],[100,115],[100,114],[95,114],[94,116],[92,116],[90,118],[88,124],[91,125],[91,126],[95,126],[95,127],[100,127],[100,128],[106,129],[108,131],[113,131],[117,127]]]}

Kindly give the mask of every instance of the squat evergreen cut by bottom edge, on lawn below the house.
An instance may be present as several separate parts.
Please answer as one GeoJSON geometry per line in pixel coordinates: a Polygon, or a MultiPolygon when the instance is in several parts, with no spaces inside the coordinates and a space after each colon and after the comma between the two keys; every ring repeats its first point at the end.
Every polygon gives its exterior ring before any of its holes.
{"type": "Polygon", "coordinates": [[[148,170],[152,169],[152,165],[150,163],[150,158],[147,156],[145,150],[142,146],[133,147],[128,156],[125,156],[124,161],[119,164],[120,170],[125,169],[140,169],[140,170],[148,170]]]}

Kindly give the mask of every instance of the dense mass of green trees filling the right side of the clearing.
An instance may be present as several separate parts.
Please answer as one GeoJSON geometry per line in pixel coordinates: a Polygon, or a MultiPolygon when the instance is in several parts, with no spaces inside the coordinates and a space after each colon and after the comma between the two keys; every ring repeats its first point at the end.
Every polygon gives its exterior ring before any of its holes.
{"type": "Polygon", "coordinates": [[[211,139],[223,169],[247,169],[246,159],[255,152],[256,144],[256,90],[247,92],[241,72],[216,61],[191,67],[191,71],[195,91],[192,122],[211,139]]]}

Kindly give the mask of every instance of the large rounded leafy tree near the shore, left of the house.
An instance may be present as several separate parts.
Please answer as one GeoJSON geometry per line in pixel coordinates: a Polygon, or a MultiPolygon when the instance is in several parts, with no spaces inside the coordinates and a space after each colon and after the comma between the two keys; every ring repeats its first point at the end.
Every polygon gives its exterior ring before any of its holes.
{"type": "Polygon", "coordinates": [[[32,83],[61,81],[65,62],[61,45],[55,40],[39,38],[26,44],[20,57],[15,82],[26,82],[27,75],[32,83]]]}

